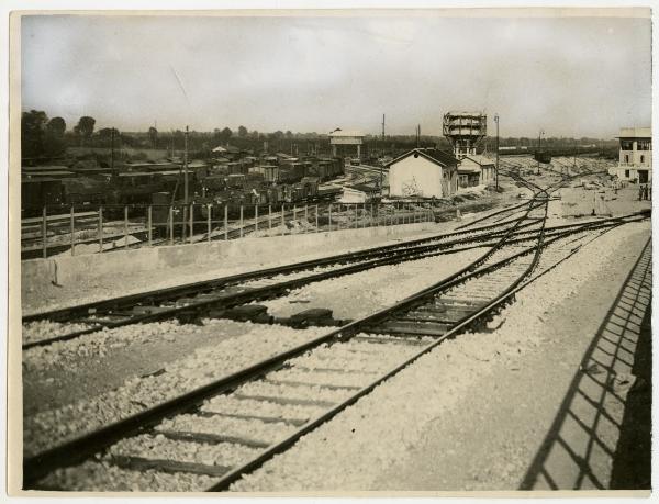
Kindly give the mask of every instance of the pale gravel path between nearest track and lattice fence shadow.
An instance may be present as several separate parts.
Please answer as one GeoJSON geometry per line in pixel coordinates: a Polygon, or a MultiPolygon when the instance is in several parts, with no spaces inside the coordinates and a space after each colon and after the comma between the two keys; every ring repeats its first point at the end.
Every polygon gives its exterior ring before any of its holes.
{"type": "Polygon", "coordinates": [[[546,432],[535,405],[556,412],[562,393],[550,393],[555,374],[571,378],[582,354],[577,336],[587,345],[607,309],[601,296],[588,296],[592,285],[601,295],[615,296],[627,271],[613,265],[633,262],[648,231],[643,223],[605,234],[520,292],[499,318],[500,327],[440,345],[233,490],[516,489],[520,467],[526,469],[530,460],[524,447],[534,451],[546,432]],[[602,288],[603,272],[610,288],[602,288]],[[577,359],[534,368],[557,339],[566,346],[563,355],[577,359]],[[515,374],[522,369],[527,380],[515,374]],[[500,381],[502,373],[513,378],[500,381]],[[506,397],[501,387],[514,389],[515,401],[498,401],[506,397]],[[506,432],[503,438],[498,428],[506,432]]]}

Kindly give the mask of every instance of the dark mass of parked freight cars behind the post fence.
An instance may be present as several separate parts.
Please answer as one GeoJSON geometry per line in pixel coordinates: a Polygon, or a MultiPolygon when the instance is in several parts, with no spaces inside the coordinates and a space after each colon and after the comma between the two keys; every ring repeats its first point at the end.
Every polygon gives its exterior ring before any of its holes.
{"type": "MultiPolygon", "coordinates": [[[[340,175],[342,160],[335,158],[332,163],[322,160],[315,165],[308,163],[241,165],[239,173],[226,173],[224,167],[212,164],[191,163],[188,172],[190,200],[223,201],[234,206],[276,205],[330,198],[331,190],[319,194],[323,179],[315,173],[324,173],[325,179],[340,175]]],[[[123,171],[119,173],[85,176],[71,172],[69,177],[62,169],[57,170],[57,175],[55,170],[24,173],[21,184],[23,214],[37,215],[45,205],[152,204],[156,203],[154,194],[157,193],[168,193],[170,204],[182,199],[185,186],[181,170],[171,168],[161,164],[134,164],[122,167],[123,171]]]]}

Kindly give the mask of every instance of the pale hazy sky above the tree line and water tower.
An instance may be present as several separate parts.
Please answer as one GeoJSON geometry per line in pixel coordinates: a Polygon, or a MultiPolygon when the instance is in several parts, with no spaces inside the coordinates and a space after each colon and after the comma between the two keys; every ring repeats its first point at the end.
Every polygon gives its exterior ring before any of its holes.
{"type": "MultiPolygon", "coordinates": [[[[449,110],[502,136],[650,125],[649,18],[24,16],[22,109],[97,128],[440,135],[449,110]]],[[[518,11],[515,13],[518,14],[518,11]]]]}

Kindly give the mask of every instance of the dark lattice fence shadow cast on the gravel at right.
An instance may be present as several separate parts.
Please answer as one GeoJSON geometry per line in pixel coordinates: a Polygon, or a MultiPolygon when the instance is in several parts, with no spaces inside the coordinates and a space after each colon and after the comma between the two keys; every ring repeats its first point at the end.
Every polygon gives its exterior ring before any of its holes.
{"type": "MultiPolygon", "coordinates": [[[[645,365],[648,362],[645,352],[651,337],[651,239],[648,239],[587,349],[520,490],[610,489],[612,480],[616,488],[625,488],[625,478],[621,477],[625,471],[616,463],[618,449],[624,445],[623,451],[629,452],[629,445],[638,443],[638,436],[630,433],[636,430],[635,419],[639,417],[639,408],[628,415],[626,404],[638,393],[648,394],[650,389],[651,372],[644,372],[645,378],[639,378],[635,362],[639,359],[645,365]],[[644,356],[639,356],[640,352],[644,356]]],[[[640,410],[648,407],[644,404],[640,410]]],[[[640,481],[637,478],[633,484],[649,489],[649,445],[647,450],[643,459],[647,463],[639,469],[647,472],[648,478],[640,481]]]]}

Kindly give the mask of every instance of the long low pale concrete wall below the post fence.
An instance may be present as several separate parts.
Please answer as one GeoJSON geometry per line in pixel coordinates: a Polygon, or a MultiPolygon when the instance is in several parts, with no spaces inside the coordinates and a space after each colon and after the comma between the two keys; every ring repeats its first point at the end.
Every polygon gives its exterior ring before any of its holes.
{"type": "MultiPolygon", "coordinates": [[[[243,238],[228,242],[212,242],[192,245],[172,245],[105,254],[64,256],[48,259],[30,259],[21,262],[23,289],[38,289],[40,284],[55,282],[75,284],[79,280],[104,277],[113,273],[126,275],[137,271],[166,271],[181,266],[198,265],[222,267],[225,261],[255,266],[273,260],[295,258],[305,254],[326,253],[330,256],[350,248],[376,246],[395,237],[411,236],[432,231],[435,223],[403,224],[389,227],[342,229],[326,233],[243,238]]],[[[271,261],[270,261],[271,262],[271,261]]],[[[231,266],[231,265],[227,265],[231,266]]]]}

